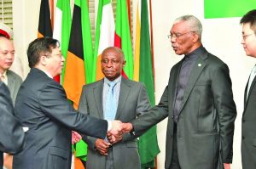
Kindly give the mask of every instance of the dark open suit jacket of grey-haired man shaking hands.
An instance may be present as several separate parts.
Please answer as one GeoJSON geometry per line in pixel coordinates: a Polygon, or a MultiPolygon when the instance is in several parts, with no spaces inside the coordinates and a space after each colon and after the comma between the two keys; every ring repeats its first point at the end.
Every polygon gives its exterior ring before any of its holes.
{"type": "MultiPolygon", "coordinates": [[[[172,67],[160,104],[133,122],[139,135],[167,116],[166,164],[172,162],[173,104],[182,61],[172,67]]],[[[229,68],[204,49],[191,70],[177,120],[177,155],[182,169],[217,169],[232,161],[236,104],[229,68]]]]}

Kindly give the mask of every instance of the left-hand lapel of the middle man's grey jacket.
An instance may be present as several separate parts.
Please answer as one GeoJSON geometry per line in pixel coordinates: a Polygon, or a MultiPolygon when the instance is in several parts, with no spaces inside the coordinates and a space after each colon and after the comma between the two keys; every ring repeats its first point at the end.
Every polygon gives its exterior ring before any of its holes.
{"type": "Polygon", "coordinates": [[[96,107],[100,118],[104,118],[103,115],[103,104],[102,104],[102,93],[103,93],[103,80],[98,82],[93,88],[93,95],[96,103],[96,107]]]}

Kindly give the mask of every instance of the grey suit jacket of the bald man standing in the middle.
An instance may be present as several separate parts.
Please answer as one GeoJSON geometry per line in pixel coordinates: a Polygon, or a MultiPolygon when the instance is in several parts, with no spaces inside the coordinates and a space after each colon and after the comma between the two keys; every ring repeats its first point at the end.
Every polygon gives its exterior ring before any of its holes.
{"type": "MultiPolygon", "coordinates": [[[[104,119],[102,108],[103,80],[85,85],[79,102],[79,111],[90,116],[104,119]]],[[[119,104],[115,119],[129,122],[137,118],[140,112],[150,109],[148,94],[140,82],[125,80],[120,84],[119,104]]],[[[116,169],[139,169],[140,161],[137,151],[136,138],[129,139],[130,134],[124,136],[123,141],[113,144],[113,165],[116,169]]],[[[106,156],[95,149],[96,138],[83,136],[88,144],[87,169],[105,169],[106,156]]]]}

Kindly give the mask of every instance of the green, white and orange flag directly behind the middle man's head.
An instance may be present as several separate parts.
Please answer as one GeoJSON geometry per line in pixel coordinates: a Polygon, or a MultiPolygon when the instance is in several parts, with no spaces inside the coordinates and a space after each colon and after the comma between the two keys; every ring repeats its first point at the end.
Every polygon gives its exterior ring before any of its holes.
{"type": "MultiPolygon", "coordinates": [[[[96,41],[94,50],[94,74],[96,81],[103,78],[101,57],[105,48],[113,47],[114,19],[111,0],[99,0],[96,20],[96,41]]],[[[93,81],[95,81],[93,79],[93,81]]]]}

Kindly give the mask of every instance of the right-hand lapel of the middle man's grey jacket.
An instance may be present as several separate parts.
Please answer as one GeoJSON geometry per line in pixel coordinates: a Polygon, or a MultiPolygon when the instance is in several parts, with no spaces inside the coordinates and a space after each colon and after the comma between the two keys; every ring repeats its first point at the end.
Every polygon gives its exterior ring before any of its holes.
{"type": "Polygon", "coordinates": [[[119,115],[121,114],[125,106],[125,101],[130,93],[130,89],[131,87],[129,86],[128,81],[122,77],[120,93],[119,93],[119,104],[118,104],[118,109],[116,110],[115,119],[119,119],[119,115]]]}

